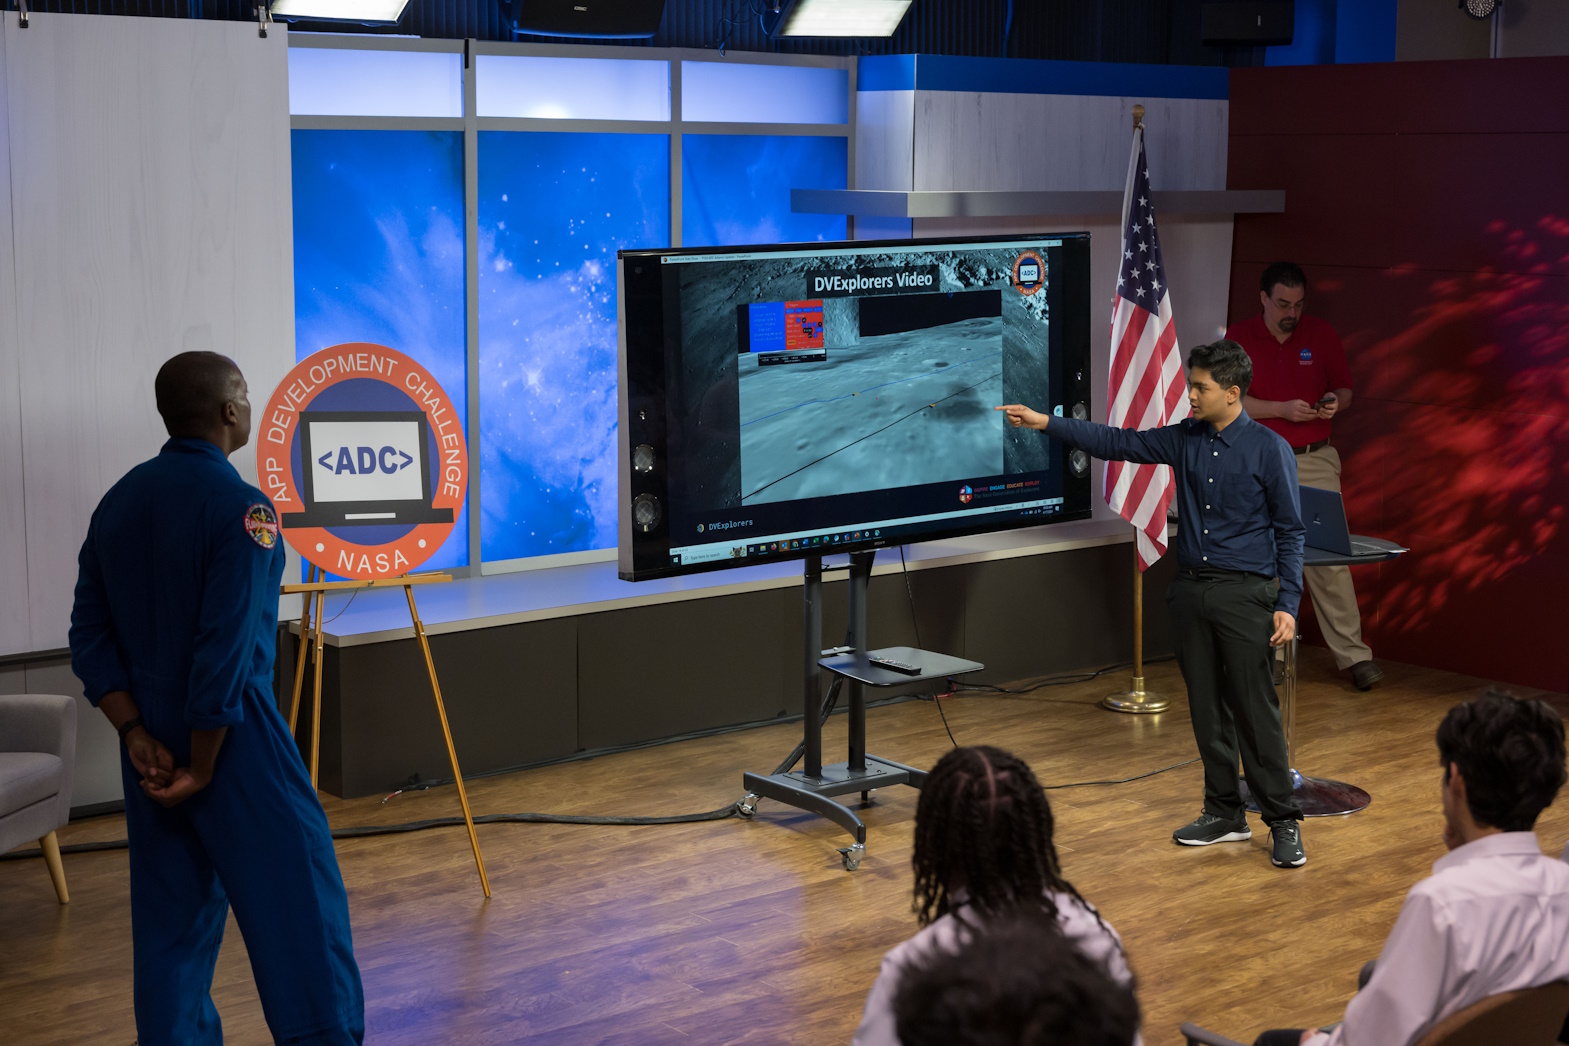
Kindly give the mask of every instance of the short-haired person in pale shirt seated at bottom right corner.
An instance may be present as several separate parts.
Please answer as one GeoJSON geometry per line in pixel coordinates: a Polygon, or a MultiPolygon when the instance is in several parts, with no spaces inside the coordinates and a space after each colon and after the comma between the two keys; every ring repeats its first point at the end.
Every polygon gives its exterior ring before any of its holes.
{"type": "Polygon", "coordinates": [[[1564,784],[1563,720],[1489,690],[1450,709],[1437,742],[1450,853],[1406,895],[1338,1027],[1255,1046],[1409,1046],[1487,996],[1569,979],[1569,864],[1531,831],[1564,784]]]}

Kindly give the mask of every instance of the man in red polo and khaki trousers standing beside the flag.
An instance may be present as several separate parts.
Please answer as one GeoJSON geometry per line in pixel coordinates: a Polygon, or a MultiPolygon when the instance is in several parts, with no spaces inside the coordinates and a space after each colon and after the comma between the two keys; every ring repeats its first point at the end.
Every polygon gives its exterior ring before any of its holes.
{"type": "MultiPolygon", "coordinates": [[[[1263,312],[1225,332],[1254,361],[1254,384],[1243,398],[1247,416],[1280,433],[1296,452],[1296,480],[1302,486],[1340,489],[1340,453],[1329,445],[1331,419],[1351,406],[1351,369],[1340,336],[1318,317],[1302,314],[1307,276],[1291,262],[1276,262],[1258,281],[1263,312]]],[[[1384,677],[1373,651],[1362,641],[1362,616],[1351,571],[1310,566],[1302,582],[1313,597],[1318,624],[1335,656],[1335,666],[1351,670],[1359,690],[1384,677]]]]}

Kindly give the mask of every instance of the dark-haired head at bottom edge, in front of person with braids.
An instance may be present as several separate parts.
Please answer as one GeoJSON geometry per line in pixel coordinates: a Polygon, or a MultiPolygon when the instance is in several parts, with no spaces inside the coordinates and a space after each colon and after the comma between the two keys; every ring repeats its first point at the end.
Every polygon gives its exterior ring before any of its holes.
{"type": "Polygon", "coordinates": [[[1139,1004],[1040,908],[1021,908],[912,963],[894,1022],[902,1046],[1130,1046],[1139,1004]]]}

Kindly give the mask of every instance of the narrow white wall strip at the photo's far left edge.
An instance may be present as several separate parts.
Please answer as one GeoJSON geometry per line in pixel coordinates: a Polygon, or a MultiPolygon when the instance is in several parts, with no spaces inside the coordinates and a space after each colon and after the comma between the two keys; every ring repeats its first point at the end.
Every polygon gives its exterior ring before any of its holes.
{"type": "Polygon", "coordinates": [[[28,648],[27,514],[22,503],[22,370],[16,334],[5,67],[5,44],[0,41],[0,654],[16,654],[28,648]]]}

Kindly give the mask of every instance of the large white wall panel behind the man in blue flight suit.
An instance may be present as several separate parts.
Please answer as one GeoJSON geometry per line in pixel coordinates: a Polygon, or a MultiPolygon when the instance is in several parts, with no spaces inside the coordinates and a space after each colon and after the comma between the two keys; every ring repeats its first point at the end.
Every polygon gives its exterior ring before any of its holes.
{"type": "Polygon", "coordinates": [[[6,19],[5,50],[30,646],[49,649],[94,505],[165,439],[158,365],[223,353],[260,406],[293,361],[289,72],[282,27],[31,22],[6,19]]]}

